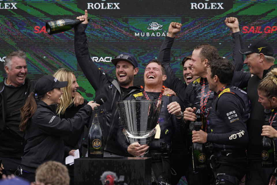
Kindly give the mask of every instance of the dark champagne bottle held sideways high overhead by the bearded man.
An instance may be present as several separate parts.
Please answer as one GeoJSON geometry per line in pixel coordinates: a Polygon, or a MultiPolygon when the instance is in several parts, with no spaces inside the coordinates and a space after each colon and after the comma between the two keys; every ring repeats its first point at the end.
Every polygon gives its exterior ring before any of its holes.
{"type": "MultiPolygon", "coordinates": [[[[89,18],[87,18],[87,21],[89,21],[89,18]]],[[[46,27],[47,33],[49,35],[52,35],[52,34],[57,34],[57,33],[70,30],[75,25],[81,22],[83,21],[80,21],[79,19],[76,19],[76,18],[61,18],[61,19],[46,22],[45,27],[46,27]]]]}

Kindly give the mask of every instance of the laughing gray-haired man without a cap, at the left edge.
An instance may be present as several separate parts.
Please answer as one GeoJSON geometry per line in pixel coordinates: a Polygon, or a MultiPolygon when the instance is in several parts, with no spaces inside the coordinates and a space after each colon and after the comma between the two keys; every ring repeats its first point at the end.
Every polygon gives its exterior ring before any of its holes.
{"type": "Polygon", "coordinates": [[[0,159],[6,174],[14,174],[24,149],[23,132],[19,130],[20,111],[35,81],[27,76],[26,54],[9,53],[4,62],[7,77],[0,83],[0,159]]]}

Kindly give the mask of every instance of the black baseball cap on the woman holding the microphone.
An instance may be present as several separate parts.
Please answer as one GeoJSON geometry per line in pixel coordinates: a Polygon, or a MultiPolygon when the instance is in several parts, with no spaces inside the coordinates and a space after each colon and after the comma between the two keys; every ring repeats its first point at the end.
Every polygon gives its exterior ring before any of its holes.
{"type": "Polygon", "coordinates": [[[38,95],[44,95],[46,92],[54,88],[62,88],[67,86],[68,82],[60,82],[55,77],[51,75],[45,75],[38,79],[37,83],[34,86],[34,89],[38,95]]]}

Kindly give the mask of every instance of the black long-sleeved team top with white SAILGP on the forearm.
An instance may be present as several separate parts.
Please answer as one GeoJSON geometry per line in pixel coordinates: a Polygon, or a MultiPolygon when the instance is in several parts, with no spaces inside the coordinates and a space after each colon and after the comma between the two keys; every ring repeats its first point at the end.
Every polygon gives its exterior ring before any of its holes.
{"type": "Polygon", "coordinates": [[[207,142],[215,149],[245,149],[250,102],[243,90],[226,86],[215,98],[207,117],[207,142]]]}

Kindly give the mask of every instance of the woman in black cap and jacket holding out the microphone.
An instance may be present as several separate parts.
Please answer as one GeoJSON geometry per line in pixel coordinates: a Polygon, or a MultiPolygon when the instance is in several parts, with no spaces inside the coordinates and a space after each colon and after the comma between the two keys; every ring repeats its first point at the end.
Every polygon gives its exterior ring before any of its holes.
{"type": "MultiPolygon", "coordinates": [[[[63,91],[68,82],[59,82],[55,77],[40,77],[33,92],[20,109],[20,130],[25,131],[26,145],[21,161],[22,176],[35,181],[36,168],[49,160],[63,161],[63,136],[84,127],[91,112],[99,104],[90,101],[72,119],[61,119],[56,115],[63,91]]],[[[20,170],[21,171],[21,170],[20,170]]]]}

